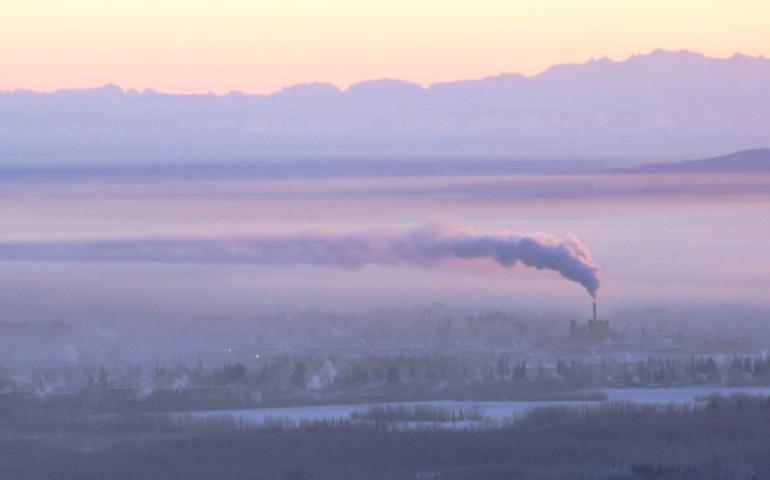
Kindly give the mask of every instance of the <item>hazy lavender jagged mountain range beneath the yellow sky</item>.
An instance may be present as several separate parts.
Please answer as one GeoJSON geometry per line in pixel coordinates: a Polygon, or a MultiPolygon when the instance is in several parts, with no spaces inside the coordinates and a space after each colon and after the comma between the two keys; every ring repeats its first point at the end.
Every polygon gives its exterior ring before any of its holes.
{"type": "Polygon", "coordinates": [[[656,50],[427,88],[373,80],[272,95],[0,92],[0,162],[644,160],[770,145],[770,60],[656,50]]]}

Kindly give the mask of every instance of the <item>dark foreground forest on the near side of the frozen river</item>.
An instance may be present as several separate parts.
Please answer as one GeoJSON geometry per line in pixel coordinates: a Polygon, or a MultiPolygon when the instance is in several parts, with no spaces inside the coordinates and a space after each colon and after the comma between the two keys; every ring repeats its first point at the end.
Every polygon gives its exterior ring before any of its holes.
{"type": "MultiPolygon", "coordinates": [[[[49,412],[50,414],[50,412],[49,412]]],[[[493,429],[249,425],[167,414],[2,417],[0,478],[757,479],[770,398],[544,408],[493,429]]]]}

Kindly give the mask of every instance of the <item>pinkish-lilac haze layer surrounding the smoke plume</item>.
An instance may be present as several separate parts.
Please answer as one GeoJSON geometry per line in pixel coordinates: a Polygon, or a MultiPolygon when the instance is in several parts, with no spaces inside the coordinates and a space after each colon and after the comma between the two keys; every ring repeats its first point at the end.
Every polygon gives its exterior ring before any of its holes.
{"type": "MultiPolygon", "coordinates": [[[[743,182],[769,191],[770,175],[753,174],[743,182]]],[[[608,313],[633,304],[770,308],[766,240],[770,198],[724,188],[740,183],[737,176],[710,175],[675,179],[615,175],[611,182],[593,175],[425,177],[407,182],[403,178],[11,182],[4,192],[7,199],[0,202],[0,318],[12,318],[14,309],[71,318],[85,315],[97,303],[124,316],[165,305],[180,318],[196,313],[193,307],[197,313],[248,315],[259,309],[260,302],[331,308],[443,302],[590,312],[591,298],[578,283],[521,264],[512,268],[495,268],[488,262],[441,268],[375,264],[346,269],[105,258],[47,263],[13,260],[8,248],[19,243],[38,248],[41,241],[63,242],[61,246],[116,239],[124,242],[121,248],[128,253],[136,239],[229,244],[233,238],[330,230],[405,231],[430,221],[496,234],[576,235],[602,270],[598,301],[608,313]],[[607,188],[608,183],[613,187],[607,188]],[[318,189],[320,184],[323,189],[318,189]],[[353,185],[359,186],[359,193],[351,189],[353,185]],[[573,187],[581,185],[589,187],[576,193],[573,187]],[[605,187],[597,189],[601,185],[605,187]],[[692,191],[686,185],[701,188],[692,191]]],[[[146,245],[141,249],[151,253],[146,245]]],[[[237,249],[232,243],[222,251],[237,249]]],[[[174,255],[190,251],[186,247],[174,255]]],[[[73,256],[83,252],[70,250],[73,256]]]]}

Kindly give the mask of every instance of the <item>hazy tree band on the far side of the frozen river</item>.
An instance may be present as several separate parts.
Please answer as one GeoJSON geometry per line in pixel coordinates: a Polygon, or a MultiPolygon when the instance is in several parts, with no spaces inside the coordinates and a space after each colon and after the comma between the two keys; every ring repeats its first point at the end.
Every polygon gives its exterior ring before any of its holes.
{"type": "Polygon", "coordinates": [[[85,364],[24,376],[0,367],[0,406],[124,413],[420,400],[603,400],[608,388],[692,385],[767,386],[770,359],[314,354],[210,366],[201,360],[156,362],[152,368],[85,364]]]}

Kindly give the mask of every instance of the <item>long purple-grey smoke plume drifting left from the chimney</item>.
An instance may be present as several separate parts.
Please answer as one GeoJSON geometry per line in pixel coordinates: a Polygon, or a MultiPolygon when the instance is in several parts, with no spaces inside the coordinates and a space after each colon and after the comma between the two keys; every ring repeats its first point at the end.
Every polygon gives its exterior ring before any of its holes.
{"type": "Polygon", "coordinates": [[[486,260],[505,268],[521,263],[551,270],[596,298],[601,270],[575,236],[545,233],[480,234],[428,225],[406,232],[298,233],[227,238],[155,237],[0,243],[0,259],[15,261],[238,263],[321,265],[345,269],[368,264],[439,267],[486,260]]]}

